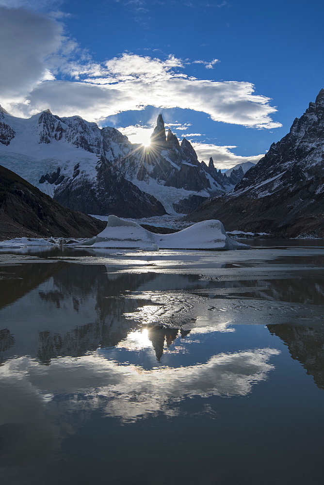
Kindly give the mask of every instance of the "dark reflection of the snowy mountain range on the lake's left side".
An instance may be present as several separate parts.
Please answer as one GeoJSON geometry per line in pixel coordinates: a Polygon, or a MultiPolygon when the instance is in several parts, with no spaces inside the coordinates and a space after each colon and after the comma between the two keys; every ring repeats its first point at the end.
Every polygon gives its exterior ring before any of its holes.
{"type": "MultiPolygon", "coordinates": [[[[104,265],[56,262],[11,269],[21,279],[18,292],[10,287],[4,294],[3,301],[16,299],[16,303],[1,311],[5,329],[0,332],[0,355],[3,359],[29,355],[43,364],[58,356],[82,356],[99,346],[113,347],[125,339],[139,323],[125,315],[151,303],[128,295],[146,288],[193,288],[197,284],[193,275],[107,274],[104,265]]],[[[164,341],[171,343],[171,333],[150,334],[157,358],[164,341]]]]}

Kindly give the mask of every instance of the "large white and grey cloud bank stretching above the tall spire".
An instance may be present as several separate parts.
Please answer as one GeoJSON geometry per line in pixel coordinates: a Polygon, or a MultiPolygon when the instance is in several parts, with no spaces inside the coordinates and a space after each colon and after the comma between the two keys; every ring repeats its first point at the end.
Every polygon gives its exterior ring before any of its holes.
{"type": "Polygon", "coordinates": [[[256,95],[250,82],[188,77],[181,72],[185,64],[173,55],[158,59],[124,53],[99,64],[65,37],[55,18],[0,10],[0,42],[6,46],[0,53],[0,102],[13,114],[30,116],[49,108],[58,115],[97,121],[151,105],[191,109],[224,123],[281,126],[271,119],[276,110],[270,98],[256,95]]]}

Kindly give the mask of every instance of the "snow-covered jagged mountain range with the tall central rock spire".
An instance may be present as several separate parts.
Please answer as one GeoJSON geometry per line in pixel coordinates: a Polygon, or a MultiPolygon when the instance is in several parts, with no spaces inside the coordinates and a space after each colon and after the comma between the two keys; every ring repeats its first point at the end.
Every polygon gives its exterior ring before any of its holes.
{"type": "Polygon", "coordinates": [[[145,148],[80,116],[21,119],[0,109],[0,164],[70,209],[121,217],[187,213],[242,178],[199,162],[188,140],[166,136],[162,115],[145,148]]]}

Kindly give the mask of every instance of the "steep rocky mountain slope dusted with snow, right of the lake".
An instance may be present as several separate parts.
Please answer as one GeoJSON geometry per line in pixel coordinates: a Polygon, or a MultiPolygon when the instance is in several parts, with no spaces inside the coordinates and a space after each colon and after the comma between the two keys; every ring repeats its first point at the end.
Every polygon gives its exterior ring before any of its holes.
{"type": "Polygon", "coordinates": [[[324,237],[324,89],[230,193],[187,219],[220,219],[227,230],[324,237]]]}

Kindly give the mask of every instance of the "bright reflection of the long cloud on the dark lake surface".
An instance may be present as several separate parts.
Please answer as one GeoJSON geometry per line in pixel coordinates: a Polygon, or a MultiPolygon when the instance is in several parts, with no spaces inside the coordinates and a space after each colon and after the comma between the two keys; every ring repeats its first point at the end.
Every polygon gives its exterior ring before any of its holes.
{"type": "Polygon", "coordinates": [[[106,360],[98,351],[73,360],[61,358],[50,367],[27,358],[13,360],[3,368],[2,378],[10,376],[16,386],[25,375],[33,388],[49,396],[43,405],[62,413],[62,420],[71,413],[100,410],[127,422],[157,412],[168,415],[172,405],[186,397],[245,396],[266,379],[273,369],[269,359],[278,354],[269,348],[247,350],[212,356],[204,364],[146,371],[106,360]],[[50,394],[56,397],[50,400],[50,394]]]}

